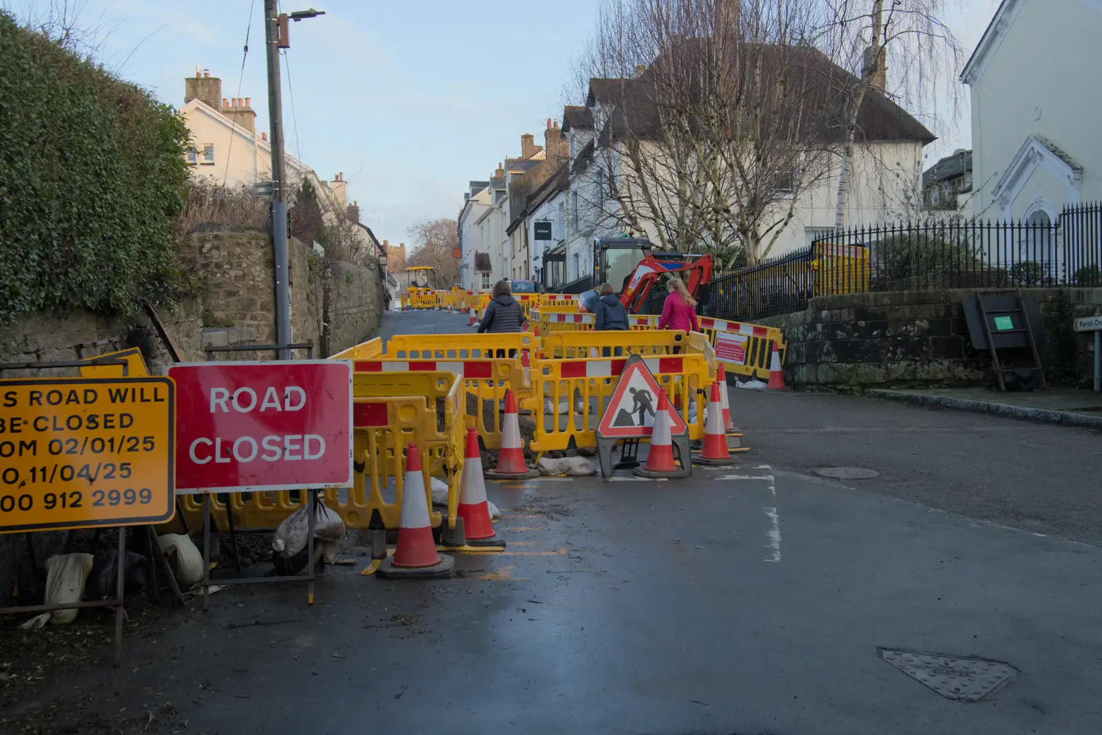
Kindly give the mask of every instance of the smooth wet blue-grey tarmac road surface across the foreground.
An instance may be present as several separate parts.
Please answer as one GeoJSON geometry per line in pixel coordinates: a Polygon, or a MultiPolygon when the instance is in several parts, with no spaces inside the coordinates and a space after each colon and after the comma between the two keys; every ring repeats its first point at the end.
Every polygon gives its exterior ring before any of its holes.
{"type": "MultiPolygon", "coordinates": [[[[939,460],[930,434],[906,437],[916,461],[939,460]]],[[[1102,550],[812,478],[757,438],[690,481],[490,483],[508,550],[460,555],[453,579],[361,577],[360,558],[312,608],[302,585],[230,589],[54,691],[172,703],[191,733],[1099,732],[1102,550]],[[878,647],[1018,673],[955,702],[878,647]]]]}

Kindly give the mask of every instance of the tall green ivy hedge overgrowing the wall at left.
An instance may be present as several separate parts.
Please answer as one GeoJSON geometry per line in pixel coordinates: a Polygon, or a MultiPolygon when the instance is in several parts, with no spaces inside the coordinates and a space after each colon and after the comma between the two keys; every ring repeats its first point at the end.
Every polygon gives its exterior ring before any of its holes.
{"type": "Polygon", "coordinates": [[[2,12],[0,59],[0,325],[171,305],[185,285],[184,121],[2,12]]]}

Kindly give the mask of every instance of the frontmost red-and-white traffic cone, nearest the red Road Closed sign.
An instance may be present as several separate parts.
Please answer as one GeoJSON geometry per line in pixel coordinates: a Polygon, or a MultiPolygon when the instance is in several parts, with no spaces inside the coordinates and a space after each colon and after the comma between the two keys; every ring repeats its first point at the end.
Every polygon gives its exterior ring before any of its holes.
{"type": "Polygon", "coordinates": [[[454,568],[455,559],[436,553],[424,476],[421,474],[421,452],[415,442],[410,442],[406,450],[398,548],[395,556],[382,560],[376,575],[386,579],[447,577],[454,568]]]}

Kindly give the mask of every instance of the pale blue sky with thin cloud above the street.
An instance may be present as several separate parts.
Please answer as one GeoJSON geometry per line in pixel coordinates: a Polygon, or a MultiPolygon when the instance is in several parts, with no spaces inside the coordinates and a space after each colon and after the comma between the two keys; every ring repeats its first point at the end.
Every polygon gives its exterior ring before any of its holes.
{"type": "MultiPolygon", "coordinates": [[[[62,1],[0,4],[25,17],[62,1]]],[[[184,77],[202,66],[222,78],[223,97],[251,97],[258,128],[268,129],[262,0],[69,4],[97,33],[99,61],[123,78],[179,107],[184,77]]],[[[507,154],[518,155],[522,133],[541,142],[547,119],[561,117],[561,90],[598,2],[281,1],[284,12],[311,6],[326,14],[291,24],[287,150],[322,178],[344,172],[361,220],[396,243],[409,242],[408,230],[420,220],[454,218],[467,182],[487,178],[507,154]]],[[[952,13],[969,51],[995,7],[996,0],[971,0],[952,13]]],[[[970,145],[966,107],[955,130],[939,132],[946,139],[928,151],[933,157],[970,145]]]]}

